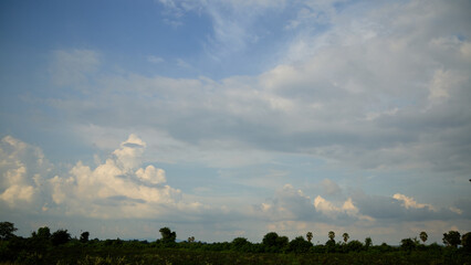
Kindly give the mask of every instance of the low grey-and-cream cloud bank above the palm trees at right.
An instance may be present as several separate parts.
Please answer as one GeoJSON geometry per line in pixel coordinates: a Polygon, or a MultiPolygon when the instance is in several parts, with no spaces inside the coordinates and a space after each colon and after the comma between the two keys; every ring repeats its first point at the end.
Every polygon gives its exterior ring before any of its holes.
{"type": "Polygon", "coordinates": [[[414,198],[400,193],[393,197],[354,193],[346,200],[327,200],[318,194],[314,197],[311,199],[302,190],[285,184],[272,199],[255,205],[253,210],[271,222],[293,221],[336,225],[358,223],[369,227],[376,227],[385,222],[457,221],[467,219],[468,214],[468,210],[462,210],[468,209],[463,202],[439,208],[419,203],[414,198]]]}

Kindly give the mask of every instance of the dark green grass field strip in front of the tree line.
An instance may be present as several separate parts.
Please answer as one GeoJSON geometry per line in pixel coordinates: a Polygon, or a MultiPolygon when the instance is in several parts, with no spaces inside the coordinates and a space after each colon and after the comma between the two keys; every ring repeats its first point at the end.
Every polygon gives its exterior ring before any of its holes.
{"type": "Polygon", "coordinates": [[[388,253],[240,253],[174,248],[76,247],[59,246],[43,254],[22,252],[15,263],[0,264],[80,264],[80,265],[191,265],[191,264],[471,264],[469,255],[456,251],[388,253]]]}

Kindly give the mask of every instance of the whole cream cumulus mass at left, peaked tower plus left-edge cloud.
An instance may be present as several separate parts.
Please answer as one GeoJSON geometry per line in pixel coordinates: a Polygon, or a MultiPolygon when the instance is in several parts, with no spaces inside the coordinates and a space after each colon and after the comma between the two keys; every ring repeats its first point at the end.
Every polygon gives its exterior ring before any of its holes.
{"type": "Polygon", "coordinates": [[[184,200],[180,190],[166,184],[163,169],[139,167],[145,147],[130,135],[96,168],[78,161],[69,173],[53,174],[39,148],[7,136],[0,148],[0,199],[12,209],[59,215],[168,218],[181,211],[200,216],[208,208],[184,200]]]}

